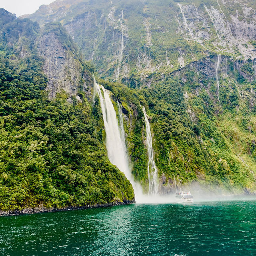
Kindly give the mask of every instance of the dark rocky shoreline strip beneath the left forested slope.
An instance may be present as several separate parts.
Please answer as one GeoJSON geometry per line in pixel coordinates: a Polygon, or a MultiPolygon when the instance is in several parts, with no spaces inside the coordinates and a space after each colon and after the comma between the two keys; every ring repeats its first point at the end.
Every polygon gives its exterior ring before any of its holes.
{"type": "Polygon", "coordinates": [[[95,204],[95,205],[86,205],[86,206],[68,206],[63,208],[44,208],[37,207],[37,208],[25,208],[23,210],[10,210],[10,211],[1,211],[0,216],[13,216],[13,215],[23,215],[23,214],[35,214],[35,213],[42,213],[42,212],[61,212],[61,211],[68,211],[68,210],[85,210],[91,208],[102,208],[102,207],[109,207],[109,206],[117,206],[117,205],[124,205],[124,204],[135,204],[135,198],[133,200],[124,200],[124,202],[113,202],[108,204],[95,204]]]}

